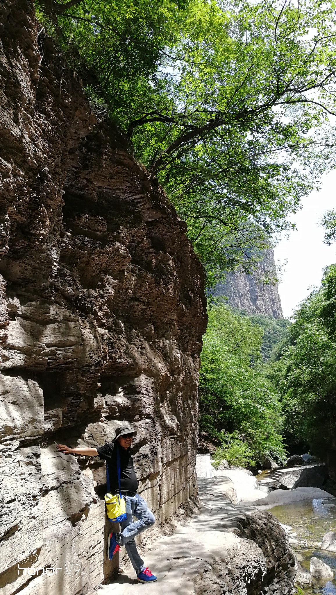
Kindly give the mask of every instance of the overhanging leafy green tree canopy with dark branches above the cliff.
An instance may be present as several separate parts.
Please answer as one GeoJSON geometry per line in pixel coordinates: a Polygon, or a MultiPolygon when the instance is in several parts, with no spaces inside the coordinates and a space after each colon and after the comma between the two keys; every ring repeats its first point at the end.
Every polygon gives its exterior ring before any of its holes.
{"type": "Polygon", "coordinates": [[[259,258],[333,159],[332,2],[51,3],[64,49],[186,221],[209,285],[259,258]]]}

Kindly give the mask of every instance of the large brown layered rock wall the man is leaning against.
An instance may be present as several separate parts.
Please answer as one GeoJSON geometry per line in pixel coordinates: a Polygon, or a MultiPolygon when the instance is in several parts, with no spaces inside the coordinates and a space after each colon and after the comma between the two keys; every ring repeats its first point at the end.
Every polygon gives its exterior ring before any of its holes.
{"type": "Polygon", "coordinates": [[[97,446],[132,422],[139,491],[158,522],[197,489],[203,273],[185,224],[40,29],[32,2],[0,3],[6,595],[85,594],[113,571],[104,463],[55,442],[97,446]],[[34,550],[57,577],[30,575],[32,558],[18,569],[34,550]]]}

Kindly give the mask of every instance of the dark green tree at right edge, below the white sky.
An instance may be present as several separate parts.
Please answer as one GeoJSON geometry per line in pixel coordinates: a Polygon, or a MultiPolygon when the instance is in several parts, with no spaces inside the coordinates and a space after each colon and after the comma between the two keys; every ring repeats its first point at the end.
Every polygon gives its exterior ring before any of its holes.
{"type": "MultiPolygon", "coordinates": [[[[295,312],[279,362],[285,433],[325,458],[336,431],[336,267],[295,312]]],[[[274,379],[273,379],[274,380],[274,379]]]]}

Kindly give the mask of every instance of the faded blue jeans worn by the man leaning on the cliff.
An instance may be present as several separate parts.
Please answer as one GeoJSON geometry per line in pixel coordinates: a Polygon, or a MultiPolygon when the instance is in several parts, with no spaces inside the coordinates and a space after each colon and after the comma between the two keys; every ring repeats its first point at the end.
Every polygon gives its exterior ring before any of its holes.
{"type": "Polygon", "coordinates": [[[122,497],[126,500],[126,520],[120,523],[122,530],[120,546],[125,546],[130,562],[138,575],[144,570],[145,565],[136,549],[135,537],[154,525],[155,516],[148,508],[147,502],[139,494],[122,497]],[[138,521],[134,521],[133,516],[136,516],[138,521]]]}

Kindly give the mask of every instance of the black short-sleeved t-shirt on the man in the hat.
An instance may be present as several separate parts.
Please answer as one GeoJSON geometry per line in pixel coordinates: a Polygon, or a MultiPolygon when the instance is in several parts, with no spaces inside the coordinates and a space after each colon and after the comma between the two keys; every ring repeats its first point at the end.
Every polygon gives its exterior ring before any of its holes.
{"type": "MultiPolygon", "coordinates": [[[[98,446],[98,455],[101,459],[105,459],[108,465],[108,475],[110,477],[111,494],[119,492],[118,475],[117,475],[117,448],[120,453],[120,491],[136,491],[138,490],[139,482],[136,479],[132,457],[130,456],[130,447],[125,450],[119,446],[119,443],[110,442],[104,446],[98,446]]],[[[108,489],[108,488],[107,488],[108,489]]]]}

